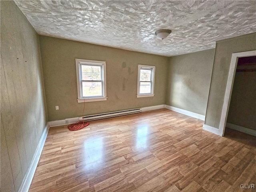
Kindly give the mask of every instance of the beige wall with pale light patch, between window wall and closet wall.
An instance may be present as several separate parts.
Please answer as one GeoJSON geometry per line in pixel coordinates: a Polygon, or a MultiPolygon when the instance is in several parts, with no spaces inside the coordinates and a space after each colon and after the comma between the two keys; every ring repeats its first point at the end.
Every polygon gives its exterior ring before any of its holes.
{"type": "Polygon", "coordinates": [[[214,50],[170,57],[167,105],[205,115],[214,50]]]}

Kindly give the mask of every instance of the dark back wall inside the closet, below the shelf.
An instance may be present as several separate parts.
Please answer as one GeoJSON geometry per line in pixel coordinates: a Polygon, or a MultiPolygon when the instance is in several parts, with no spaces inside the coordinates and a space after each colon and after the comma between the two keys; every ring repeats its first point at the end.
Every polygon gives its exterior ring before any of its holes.
{"type": "Polygon", "coordinates": [[[236,72],[227,122],[256,130],[256,72],[236,72]]]}

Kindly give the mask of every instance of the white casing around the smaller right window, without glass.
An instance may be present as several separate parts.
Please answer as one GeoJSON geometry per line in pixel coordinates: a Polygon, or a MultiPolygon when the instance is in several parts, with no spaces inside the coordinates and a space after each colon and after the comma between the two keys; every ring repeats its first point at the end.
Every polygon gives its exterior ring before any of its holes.
{"type": "Polygon", "coordinates": [[[137,80],[137,98],[140,97],[153,97],[154,94],[154,87],[155,87],[155,73],[156,73],[156,66],[150,65],[138,65],[138,80],[137,80]],[[150,94],[140,94],[140,69],[152,69],[152,93],[150,94]]]}

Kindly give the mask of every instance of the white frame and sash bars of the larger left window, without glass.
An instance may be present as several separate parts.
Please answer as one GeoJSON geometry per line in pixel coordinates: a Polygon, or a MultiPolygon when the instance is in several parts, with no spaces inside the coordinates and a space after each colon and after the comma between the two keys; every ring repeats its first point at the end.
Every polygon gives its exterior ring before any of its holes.
{"type": "Polygon", "coordinates": [[[76,81],[77,81],[77,96],[78,103],[106,101],[107,100],[107,84],[106,84],[106,62],[94,61],[85,59],[76,59],[76,81]],[[82,80],[82,65],[100,66],[102,80],[82,80]],[[102,82],[102,96],[92,96],[89,98],[82,96],[82,82],[102,82]]]}

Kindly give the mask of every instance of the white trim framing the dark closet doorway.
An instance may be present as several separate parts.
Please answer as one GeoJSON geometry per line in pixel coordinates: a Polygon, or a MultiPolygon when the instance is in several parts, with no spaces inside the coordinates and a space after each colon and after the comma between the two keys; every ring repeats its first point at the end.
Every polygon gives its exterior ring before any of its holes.
{"type": "Polygon", "coordinates": [[[228,109],[229,109],[230,100],[231,100],[231,94],[232,94],[234,78],[236,74],[236,66],[237,66],[238,58],[250,57],[250,56],[256,56],[256,50],[232,54],[230,68],[228,72],[228,81],[226,85],[226,91],[225,91],[224,102],[223,102],[221,118],[220,118],[219,135],[224,136],[224,132],[226,128],[228,109]]]}

